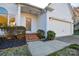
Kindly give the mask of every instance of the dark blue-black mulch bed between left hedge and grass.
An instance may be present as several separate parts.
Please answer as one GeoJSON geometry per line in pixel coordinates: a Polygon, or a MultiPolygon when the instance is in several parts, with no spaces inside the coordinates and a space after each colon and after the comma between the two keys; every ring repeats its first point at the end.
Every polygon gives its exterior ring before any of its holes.
{"type": "Polygon", "coordinates": [[[17,47],[17,46],[22,46],[26,45],[26,39],[18,40],[18,39],[11,39],[11,40],[5,40],[0,38],[0,49],[5,49],[5,48],[12,48],[12,47],[17,47]]]}

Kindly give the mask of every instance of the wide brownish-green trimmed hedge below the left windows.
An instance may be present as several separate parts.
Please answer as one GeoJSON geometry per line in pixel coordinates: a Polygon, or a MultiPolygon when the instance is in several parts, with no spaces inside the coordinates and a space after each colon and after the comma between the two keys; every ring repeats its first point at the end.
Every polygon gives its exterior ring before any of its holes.
{"type": "Polygon", "coordinates": [[[25,36],[26,33],[26,28],[23,26],[4,26],[4,27],[0,27],[0,29],[4,30],[5,33],[5,37],[8,39],[12,39],[12,37],[14,38],[16,35],[22,35],[23,37],[25,36]]]}

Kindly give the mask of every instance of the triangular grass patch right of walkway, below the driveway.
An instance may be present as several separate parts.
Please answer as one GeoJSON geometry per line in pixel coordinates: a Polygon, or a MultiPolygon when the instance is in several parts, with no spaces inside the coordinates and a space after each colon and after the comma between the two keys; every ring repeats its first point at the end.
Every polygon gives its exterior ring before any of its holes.
{"type": "Polygon", "coordinates": [[[48,56],[79,56],[79,45],[71,44],[57,52],[49,54],[48,56]]]}

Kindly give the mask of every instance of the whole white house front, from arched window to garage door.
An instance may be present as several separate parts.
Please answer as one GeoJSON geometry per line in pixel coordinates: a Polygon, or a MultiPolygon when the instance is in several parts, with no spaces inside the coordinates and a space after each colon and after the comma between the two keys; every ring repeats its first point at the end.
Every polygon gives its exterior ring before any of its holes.
{"type": "Polygon", "coordinates": [[[73,34],[73,13],[70,4],[49,4],[45,9],[25,3],[0,4],[0,24],[24,26],[26,33],[36,33],[38,29],[55,31],[56,36],[73,34]],[[6,18],[7,20],[2,20],[6,18]]]}

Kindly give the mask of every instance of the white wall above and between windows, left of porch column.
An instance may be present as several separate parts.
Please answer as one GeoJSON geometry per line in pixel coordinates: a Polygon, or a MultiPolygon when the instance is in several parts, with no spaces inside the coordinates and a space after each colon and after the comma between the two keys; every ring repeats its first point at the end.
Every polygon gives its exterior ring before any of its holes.
{"type": "Polygon", "coordinates": [[[11,17],[15,17],[15,19],[17,19],[18,9],[16,4],[2,3],[0,4],[0,7],[3,7],[8,11],[8,19],[10,19],[11,17]]]}

